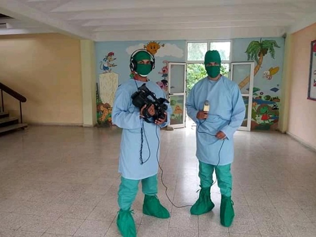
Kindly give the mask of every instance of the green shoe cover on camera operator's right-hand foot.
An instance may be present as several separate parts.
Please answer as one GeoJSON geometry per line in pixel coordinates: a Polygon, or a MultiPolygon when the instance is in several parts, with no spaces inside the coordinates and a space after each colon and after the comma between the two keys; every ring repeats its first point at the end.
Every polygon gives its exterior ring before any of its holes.
{"type": "Polygon", "coordinates": [[[167,219],[170,217],[169,211],[160,204],[156,195],[145,195],[143,204],[143,213],[157,218],[167,219]]]}

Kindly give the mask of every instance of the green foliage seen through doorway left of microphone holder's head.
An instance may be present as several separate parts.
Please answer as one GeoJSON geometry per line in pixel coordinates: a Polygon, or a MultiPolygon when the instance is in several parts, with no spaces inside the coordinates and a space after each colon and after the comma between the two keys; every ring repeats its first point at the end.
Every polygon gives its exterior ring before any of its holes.
{"type": "Polygon", "coordinates": [[[192,87],[199,79],[207,76],[204,64],[201,63],[188,63],[187,65],[187,93],[190,92],[192,87]]]}

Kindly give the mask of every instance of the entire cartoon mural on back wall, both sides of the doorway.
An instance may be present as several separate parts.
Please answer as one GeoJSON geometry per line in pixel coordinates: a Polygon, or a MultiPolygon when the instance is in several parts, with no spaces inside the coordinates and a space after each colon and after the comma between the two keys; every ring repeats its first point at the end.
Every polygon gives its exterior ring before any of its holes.
{"type": "MultiPolygon", "coordinates": [[[[277,128],[283,66],[283,38],[232,40],[232,61],[255,61],[252,129],[277,128]]],[[[156,66],[149,79],[167,94],[168,62],[185,61],[185,40],[95,42],[97,72],[97,113],[100,126],[111,126],[111,112],[118,86],[132,77],[129,58],[132,52],[144,48],[155,55],[156,66]]],[[[241,79],[239,87],[249,89],[249,77],[241,79]]],[[[180,119],[181,99],[172,101],[174,122],[180,119]],[[180,109],[179,109],[180,108],[180,109]]],[[[171,101],[170,101],[171,102],[171,101]]],[[[183,102],[182,102],[183,103],[183,102]]]]}

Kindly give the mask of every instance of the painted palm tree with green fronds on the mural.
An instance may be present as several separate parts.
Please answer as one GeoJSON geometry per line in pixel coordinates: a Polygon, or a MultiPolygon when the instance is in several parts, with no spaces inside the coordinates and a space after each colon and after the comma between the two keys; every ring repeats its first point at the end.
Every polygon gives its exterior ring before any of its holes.
{"type": "MultiPolygon", "coordinates": [[[[258,73],[259,69],[261,68],[263,57],[269,52],[271,57],[275,58],[275,48],[279,48],[280,46],[277,45],[276,40],[263,40],[260,39],[259,41],[251,41],[248,45],[247,50],[245,53],[248,55],[248,60],[255,61],[257,63],[254,76],[258,73]]],[[[243,88],[246,84],[250,81],[250,75],[243,79],[239,84],[239,88],[243,88]]]]}

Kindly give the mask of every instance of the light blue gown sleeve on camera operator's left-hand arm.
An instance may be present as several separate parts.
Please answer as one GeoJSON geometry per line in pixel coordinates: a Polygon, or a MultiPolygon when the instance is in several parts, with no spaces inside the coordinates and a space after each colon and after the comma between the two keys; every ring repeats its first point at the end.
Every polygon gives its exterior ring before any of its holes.
{"type": "Polygon", "coordinates": [[[130,95],[121,86],[115,94],[112,122],[120,128],[136,129],[142,127],[142,118],[140,118],[140,111],[129,112],[128,108],[131,103],[130,95]]]}

